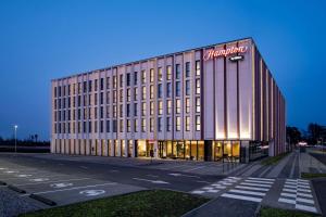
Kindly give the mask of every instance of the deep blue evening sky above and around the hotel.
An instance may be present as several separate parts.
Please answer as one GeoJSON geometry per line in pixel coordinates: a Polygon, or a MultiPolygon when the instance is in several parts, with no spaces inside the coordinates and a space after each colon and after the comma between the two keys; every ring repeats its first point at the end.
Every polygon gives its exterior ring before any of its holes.
{"type": "Polygon", "coordinates": [[[326,125],[325,1],[0,2],[0,137],[50,138],[50,80],[253,37],[287,100],[287,123],[326,125]]]}

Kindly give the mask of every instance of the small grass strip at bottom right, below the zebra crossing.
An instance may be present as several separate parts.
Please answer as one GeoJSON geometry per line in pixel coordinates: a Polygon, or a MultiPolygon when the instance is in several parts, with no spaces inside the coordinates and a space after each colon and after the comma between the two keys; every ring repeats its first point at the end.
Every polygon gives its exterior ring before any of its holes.
{"type": "Polygon", "coordinates": [[[298,210],[288,210],[280,208],[272,208],[263,206],[260,210],[261,217],[316,217],[317,215],[298,212],[298,210]]]}

